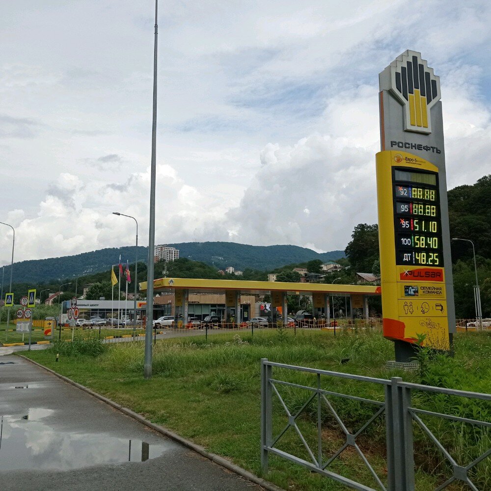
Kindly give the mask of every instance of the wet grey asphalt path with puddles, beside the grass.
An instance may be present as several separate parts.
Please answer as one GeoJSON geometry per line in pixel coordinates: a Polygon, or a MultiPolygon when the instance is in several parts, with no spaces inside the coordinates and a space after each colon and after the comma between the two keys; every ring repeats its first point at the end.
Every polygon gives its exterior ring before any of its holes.
{"type": "Polygon", "coordinates": [[[261,489],[18,356],[0,418],[0,490],[261,489]]]}

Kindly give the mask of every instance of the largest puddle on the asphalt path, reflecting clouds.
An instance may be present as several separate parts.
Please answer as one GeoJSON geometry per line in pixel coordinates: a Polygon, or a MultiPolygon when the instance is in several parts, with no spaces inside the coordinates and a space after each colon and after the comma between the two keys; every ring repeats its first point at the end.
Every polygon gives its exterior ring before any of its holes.
{"type": "Polygon", "coordinates": [[[69,470],[101,464],[144,462],[176,448],[109,434],[68,433],[43,422],[52,409],[0,416],[0,472],[15,469],[69,470]]]}

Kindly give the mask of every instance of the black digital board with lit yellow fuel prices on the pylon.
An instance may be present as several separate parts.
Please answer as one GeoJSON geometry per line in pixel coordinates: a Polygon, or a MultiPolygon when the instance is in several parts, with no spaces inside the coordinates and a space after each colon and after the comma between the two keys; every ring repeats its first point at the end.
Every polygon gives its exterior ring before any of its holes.
{"type": "Polygon", "coordinates": [[[396,264],[443,266],[438,174],[393,167],[392,189],[396,264]]]}

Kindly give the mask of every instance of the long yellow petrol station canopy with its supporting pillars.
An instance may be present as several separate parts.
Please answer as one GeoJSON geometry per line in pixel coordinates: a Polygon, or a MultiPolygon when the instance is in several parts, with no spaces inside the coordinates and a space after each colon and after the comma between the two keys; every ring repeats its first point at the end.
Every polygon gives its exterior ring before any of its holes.
{"type": "MultiPolygon", "coordinates": [[[[147,282],[139,283],[142,294],[147,291],[147,282]]],[[[379,296],[380,286],[368,285],[340,285],[327,283],[287,283],[276,281],[244,281],[244,280],[216,280],[216,279],[194,279],[194,278],[159,278],[154,280],[155,294],[174,295],[174,319],[177,325],[178,317],[182,315],[184,325],[188,324],[190,296],[199,294],[221,294],[224,296],[226,315],[241,312],[238,323],[247,320],[244,316],[248,305],[241,301],[241,297],[256,297],[271,295],[271,306],[273,322],[279,320],[276,317],[276,307],[281,307],[281,319],[287,325],[288,307],[287,296],[309,296],[312,297],[312,314],[319,318],[325,313],[327,323],[330,322],[330,297],[347,297],[350,299],[351,315],[354,309],[363,310],[363,317],[368,319],[368,297],[379,296]],[[179,312],[178,312],[179,308],[179,312]]],[[[257,314],[247,311],[248,316],[255,317],[257,314]]],[[[291,315],[292,313],[290,313],[291,315]]]]}

